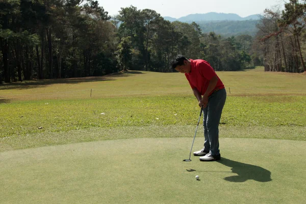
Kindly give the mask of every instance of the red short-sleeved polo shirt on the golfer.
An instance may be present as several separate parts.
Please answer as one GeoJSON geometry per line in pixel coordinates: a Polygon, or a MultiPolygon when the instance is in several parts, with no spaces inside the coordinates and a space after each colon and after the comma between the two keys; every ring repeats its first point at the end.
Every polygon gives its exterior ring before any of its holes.
{"type": "MultiPolygon", "coordinates": [[[[191,70],[189,73],[185,73],[186,78],[192,89],[196,88],[201,95],[204,95],[210,80],[216,75],[215,70],[205,60],[191,60],[191,70]]],[[[218,77],[218,82],[214,90],[223,89],[224,85],[218,77]]],[[[212,93],[210,93],[212,94],[212,93]]],[[[210,95],[209,94],[209,95],[210,95]]]]}

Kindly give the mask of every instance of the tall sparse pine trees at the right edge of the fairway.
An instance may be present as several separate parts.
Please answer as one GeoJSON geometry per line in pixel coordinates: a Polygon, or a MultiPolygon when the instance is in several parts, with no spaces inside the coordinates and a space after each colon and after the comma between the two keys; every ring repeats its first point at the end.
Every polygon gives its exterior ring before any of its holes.
{"type": "Polygon", "coordinates": [[[265,71],[306,71],[306,1],[290,0],[285,10],[265,10],[254,45],[265,71]]]}

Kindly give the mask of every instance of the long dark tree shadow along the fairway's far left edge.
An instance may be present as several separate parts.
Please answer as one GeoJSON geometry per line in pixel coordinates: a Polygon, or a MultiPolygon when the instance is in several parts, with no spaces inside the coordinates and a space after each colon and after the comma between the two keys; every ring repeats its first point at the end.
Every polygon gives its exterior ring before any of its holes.
{"type": "Polygon", "coordinates": [[[52,84],[79,84],[83,82],[104,82],[104,81],[115,81],[116,78],[130,77],[132,74],[144,74],[141,71],[128,71],[128,72],[116,72],[102,77],[84,77],[84,78],[67,78],[67,79],[50,79],[50,80],[33,80],[16,82],[9,84],[0,85],[0,90],[8,89],[31,89],[40,88],[52,84]]]}

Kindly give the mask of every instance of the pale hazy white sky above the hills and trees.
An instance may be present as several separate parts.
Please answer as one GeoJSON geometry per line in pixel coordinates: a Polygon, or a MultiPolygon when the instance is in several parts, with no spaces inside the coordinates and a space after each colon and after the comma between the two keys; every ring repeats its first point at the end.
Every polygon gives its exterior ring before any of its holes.
{"type": "MultiPolygon", "coordinates": [[[[262,14],[286,0],[97,0],[109,15],[118,14],[120,8],[133,5],[138,10],[152,9],[162,16],[180,18],[195,13],[236,13],[241,17],[262,14]]],[[[288,0],[287,0],[288,1],[288,0]]]]}

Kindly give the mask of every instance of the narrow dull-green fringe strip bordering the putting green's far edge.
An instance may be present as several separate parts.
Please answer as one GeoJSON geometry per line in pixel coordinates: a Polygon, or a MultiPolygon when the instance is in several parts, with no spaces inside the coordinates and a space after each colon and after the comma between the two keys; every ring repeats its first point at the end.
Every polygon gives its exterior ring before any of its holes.
{"type": "MultiPolygon", "coordinates": [[[[196,123],[196,121],[195,121],[196,123]]],[[[41,146],[53,146],[69,143],[91,142],[101,140],[119,140],[131,138],[185,138],[193,137],[196,124],[192,125],[148,125],[91,127],[68,132],[41,132],[27,136],[2,138],[0,152],[27,149],[41,146]]],[[[222,138],[260,138],[305,140],[306,126],[226,126],[219,127],[222,138]]],[[[197,136],[203,137],[199,127],[197,136]]]]}

